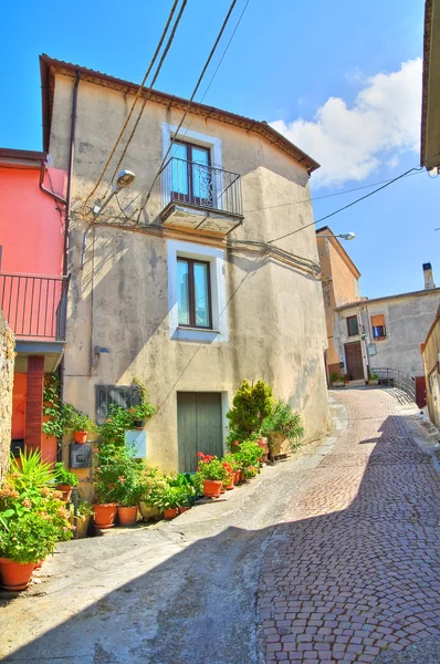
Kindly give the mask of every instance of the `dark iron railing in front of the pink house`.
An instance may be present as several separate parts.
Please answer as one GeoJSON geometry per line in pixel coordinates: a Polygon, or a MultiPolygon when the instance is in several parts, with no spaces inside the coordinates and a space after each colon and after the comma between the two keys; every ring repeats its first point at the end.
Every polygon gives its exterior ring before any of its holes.
{"type": "Polygon", "coordinates": [[[69,279],[0,273],[0,309],[15,336],[65,340],[69,279]]]}

